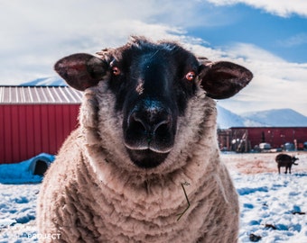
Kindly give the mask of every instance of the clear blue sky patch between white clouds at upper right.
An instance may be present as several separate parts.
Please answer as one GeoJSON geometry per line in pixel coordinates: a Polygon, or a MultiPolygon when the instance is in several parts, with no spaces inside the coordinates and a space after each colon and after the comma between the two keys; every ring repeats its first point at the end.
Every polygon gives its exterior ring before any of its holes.
{"type": "Polygon", "coordinates": [[[227,21],[207,28],[192,26],[188,28],[191,35],[220,48],[236,42],[253,43],[288,61],[307,62],[307,17],[282,17],[246,4],[213,6],[212,11],[227,21]]]}

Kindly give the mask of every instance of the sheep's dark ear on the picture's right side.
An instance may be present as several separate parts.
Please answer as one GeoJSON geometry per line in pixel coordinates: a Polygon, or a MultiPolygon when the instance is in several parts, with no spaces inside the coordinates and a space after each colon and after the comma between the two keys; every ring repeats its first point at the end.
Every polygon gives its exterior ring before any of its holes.
{"type": "Polygon", "coordinates": [[[200,64],[200,85],[213,99],[229,98],[244,88],[253,78],[246,68],[228,61],[208,60],[200,64]]]}

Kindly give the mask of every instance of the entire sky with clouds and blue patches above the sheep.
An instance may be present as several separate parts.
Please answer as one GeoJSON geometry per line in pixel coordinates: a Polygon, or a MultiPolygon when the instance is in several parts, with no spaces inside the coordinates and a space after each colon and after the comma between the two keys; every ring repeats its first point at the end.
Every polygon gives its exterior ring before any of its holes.
{"type": "Polygon", "coordinates": [[[218,102],[231,112],[290,108],[307,116],[305,0],[0,1],[0,30],[0,85],[56,76],[59,58],[143,35],[249,68],[250,85],[218,102]]]}

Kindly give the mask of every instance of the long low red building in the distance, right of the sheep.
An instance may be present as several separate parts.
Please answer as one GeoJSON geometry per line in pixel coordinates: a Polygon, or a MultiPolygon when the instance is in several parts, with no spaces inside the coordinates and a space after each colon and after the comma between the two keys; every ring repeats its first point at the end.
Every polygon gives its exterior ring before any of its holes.
{"type": "Polygon", "coordinates": [[[218,130],[219,147],[224,150],[247,152],[260,144],[270,148],[303,149],[307,127],[234,127],[218,130]]]}

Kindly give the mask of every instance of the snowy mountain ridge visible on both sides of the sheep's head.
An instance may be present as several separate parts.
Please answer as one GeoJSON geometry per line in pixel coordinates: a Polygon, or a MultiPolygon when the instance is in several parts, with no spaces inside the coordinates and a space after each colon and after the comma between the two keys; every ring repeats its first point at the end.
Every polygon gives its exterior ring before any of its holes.
{"type": "MultiPolygon", "coordinates": [[[[49,76],[35,79],[21,84],[33,85],[66,85],[59,76],[49,76]]],[[[218,108],[218,127],[227,129],[230,127],[307,127],[307,117],[292,109],[273,109],[261,112],[246,112],[236,114],[221,107],[218,108]]]]}

